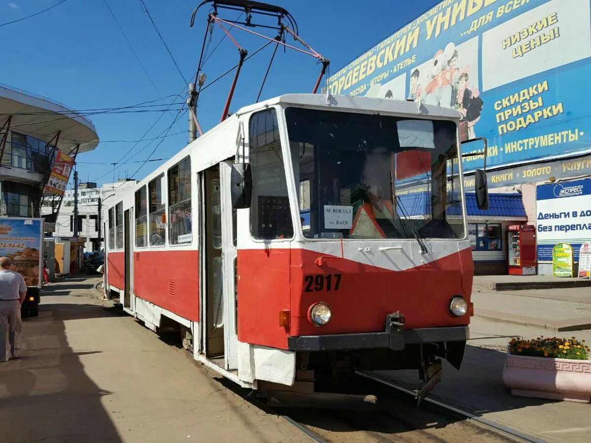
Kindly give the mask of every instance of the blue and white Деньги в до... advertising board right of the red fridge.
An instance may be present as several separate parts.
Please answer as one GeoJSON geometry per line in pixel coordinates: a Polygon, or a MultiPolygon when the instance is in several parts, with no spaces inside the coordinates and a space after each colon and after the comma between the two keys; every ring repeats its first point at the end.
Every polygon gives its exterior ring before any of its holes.
{"type": "Polygon", "coordinates": [[[582,243],[591,241],[591,178],[535,188],[538,262],[552,262],[558,243],[573,247],[579,261],[582,243]]]}

